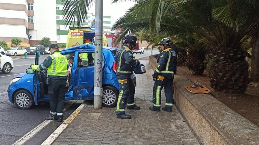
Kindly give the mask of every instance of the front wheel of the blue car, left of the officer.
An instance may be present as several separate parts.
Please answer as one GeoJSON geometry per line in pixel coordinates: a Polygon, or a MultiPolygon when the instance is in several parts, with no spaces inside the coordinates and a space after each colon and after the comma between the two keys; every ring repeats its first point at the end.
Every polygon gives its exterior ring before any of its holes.
{"type": "Polygon", "coordinates": [[[19,109],[30,109],[34,105],[34,98],[26,90],[19,90],[14,94],[14,104],[19,109]]]}

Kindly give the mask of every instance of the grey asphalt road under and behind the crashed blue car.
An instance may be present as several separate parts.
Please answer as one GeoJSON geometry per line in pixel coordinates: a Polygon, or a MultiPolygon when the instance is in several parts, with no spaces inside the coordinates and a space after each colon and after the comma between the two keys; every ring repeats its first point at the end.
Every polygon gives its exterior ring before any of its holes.
{"type": "MultiPolygon", "coordinates": [[[[157,50],[153,50],[153,54],[159,53],[157,50]]],[[[41,63],[49,54],[41,55],[39,62],[41,63]]],[[[148,57],[151,55],[151,50],[145,50],[144,54],[135,54],[136,59],[142,57],[148,57]]],[[[10,81],[18,74],[24,73],[31,64],[34,64],[34,55],[28,55],[28,59],[21,59],[23,56],[18,56],[14,60],[14,68],[9,74],[3,74],[0,72],[0,145],[1,144],[13,144],[20,139],[26,133],[34,129],[45,119],[44,117],[49,114],[49,103],[42,103],[29,110],[21,110],[15,107],[13,103],[10,103],[6,90],[10,81]],[[20,58],[19,58],[20,57],[20,58]]],[[[14,58],[12,56],[12,58],[14,58]]],[[[66,104],[70,103],[66,101],[66,104]]],[[[68,117],[82,101],[78,101],[72,104],[65,111],[65,118],[68,117]]],[[[28,140],[25,144],[41,144],[47,137],[59,126],[58,122],[55,124],[49,124],[44,129],[28,140]]]]}

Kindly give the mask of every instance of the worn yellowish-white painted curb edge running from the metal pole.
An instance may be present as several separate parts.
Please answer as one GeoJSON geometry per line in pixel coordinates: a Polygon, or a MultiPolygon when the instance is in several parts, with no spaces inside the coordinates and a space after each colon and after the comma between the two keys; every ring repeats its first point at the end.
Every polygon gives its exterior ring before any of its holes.
{"type": "Polygon", "coordinates": [[[41,145],[52,144],[86,105],[82,103],[41,145]]]}

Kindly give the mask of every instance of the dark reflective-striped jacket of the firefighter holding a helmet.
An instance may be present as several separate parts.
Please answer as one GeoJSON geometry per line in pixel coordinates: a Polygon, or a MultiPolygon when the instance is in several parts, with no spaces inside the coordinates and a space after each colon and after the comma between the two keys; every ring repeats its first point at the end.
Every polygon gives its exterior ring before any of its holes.
{"type": "Polygon", "coordinates": [[[133,57],[132,51],[129,49],[128,45],[124,45],[117,50],[115,60],[117,62],[116,76],[132,74],[132,66],[140,63],[133,57]]]}

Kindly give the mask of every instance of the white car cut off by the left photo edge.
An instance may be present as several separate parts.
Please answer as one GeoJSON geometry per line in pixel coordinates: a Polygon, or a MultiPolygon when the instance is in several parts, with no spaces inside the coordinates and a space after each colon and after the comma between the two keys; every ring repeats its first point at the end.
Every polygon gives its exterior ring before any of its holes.
{"type": "Polygon", "coordinates": [[[9,56],[0,54],[0,71],[4,74],[8,74],[14,67],[13,59],[9,56]]]}

